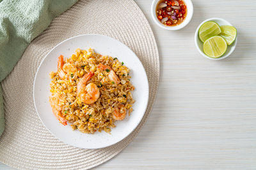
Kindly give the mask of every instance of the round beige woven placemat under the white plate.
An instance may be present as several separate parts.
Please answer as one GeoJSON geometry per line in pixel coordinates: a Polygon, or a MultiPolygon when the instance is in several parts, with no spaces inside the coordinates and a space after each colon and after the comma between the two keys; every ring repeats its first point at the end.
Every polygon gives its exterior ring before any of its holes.
{"type": "Polygon", "coordinates": [[[6,127],[0,138],[0,162],[17,169],[89,169],[114,157],[138,134],[152,109],[159,81],[159,56],[147,19],[132,0],[79,1],[36,38],[2,82],[6,127]],[[33,81],[45,55],[79,34],[104,34],[129,46],[147,71],[150,96],[145,117],[123,141],[98,150],[75,148],[56,139],[38,118],[33,81]]]}

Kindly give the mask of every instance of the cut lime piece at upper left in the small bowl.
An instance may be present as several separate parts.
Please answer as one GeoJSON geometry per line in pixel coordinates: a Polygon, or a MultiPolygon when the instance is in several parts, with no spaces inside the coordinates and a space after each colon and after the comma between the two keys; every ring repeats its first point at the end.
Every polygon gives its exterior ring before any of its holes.
{"type": "Polygon", "coordinates": [[[204,41],[212,36],[217,36],[220,34],[221,29],[220,26],[213,21],[205,22],[199,29],[198,36],[200,40],[204,43],[204,41]]]}

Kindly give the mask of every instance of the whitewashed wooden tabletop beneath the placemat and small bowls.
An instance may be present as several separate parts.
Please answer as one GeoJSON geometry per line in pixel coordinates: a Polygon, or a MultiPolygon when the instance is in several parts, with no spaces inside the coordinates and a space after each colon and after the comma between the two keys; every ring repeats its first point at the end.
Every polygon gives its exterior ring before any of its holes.
{"type": "Polygon", "coordinates": [[[193,0],[191,22],[173,32],[154,24],[150,0],[136,3],[161,57],[157,99],[137,138],[95,169],[256,169],[256,1],[193,0]],[[196,27],[211,17],[237,27],[227,59],[206,59],[195,48],[196,27]]]}

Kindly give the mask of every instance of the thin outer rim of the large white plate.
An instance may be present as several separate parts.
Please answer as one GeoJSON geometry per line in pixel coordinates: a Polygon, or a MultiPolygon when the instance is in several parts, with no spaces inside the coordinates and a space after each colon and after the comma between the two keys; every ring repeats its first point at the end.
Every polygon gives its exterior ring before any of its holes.
{"type": "MultiPolygon", "coordinates": [[[[158,89],[158,88],[157,88],[158,89]]],[[[155,99],[156,100],[156,99],[155,99]]],[[[147,72],[145,71],[145,67],[143,66],[140,58],[136,55],[136,53],[134,53],[131,48],[129,48],[129,46],[125,45],[124,43],[122,43],[121,41],[119,41],[118,39],[115,39],[115,38],[112,38],[110,36],[106,36],[106,35],[102,35],[102,34],[79,34],[77,36],[72,36],[70,38],[67,38],[63,41],[61,41],[60,43],[58,43],[56,46],[54,46],[53,48],[51,48],[51,50],[44,56],[44,59],[42,59],[42,61],[40,62],[39,66],[38,66],[38,69],[36,70],[36,74],[35,74],[35,78],[34,78],[34,81],[33,81],[33,103],[34,103],[34,107],[35,107],[35,110],[36,110],[36,114],[38,115],[39,119],[40,119],[40,122],[42,122],[42,124],[44,125],[44,127],[49,131],[51,132],[51,134],[59,139],[61,142],[65,143],[66,145],[70,145],[70,146],[74,146],[76,148],[84,148],[84,149],[100,149],[100,148],[106,148],[106,147],[109,147],[109,146],[113,146],[115,145],[116,143],[119,143],[120,141],[123,141],[125,138],[127,138],[132,132],[134,132],[134,130],[138,127],[138,125],[140,125],[141,121],[143,120],[143,118],[145,117],[145,113],[147,111],[147,106],[148,106],[148,101],[149,101],[149,83],[148,83],[148,76],[147,76],[147,72]],[[143,115],[141,116],[140,120],[138,121],[138,124],[137,125],[134,125],[134,127],[132,128],[132,131],[127,133],[126,136],[124,136],[124,138],[122,139],[119,139],[119,140],[116,140],[114,143],[111,143],[109,145],[104,145],[104,146],[99,146],[99,147],[79,147],[79,146],[75,146],[75,145],[72,145],[70,143],[66,143],[65,141],[63,141],[62,139],[58,138],[58,136],[56,136],[45,124],[44,124],[44,121],[42,121],[42,118],[40,117],[40,114],[38,113],[38,110],[36,108],[36,102],[35,102],[35,83],[36,83],[36,78],[37,78],[37,74],[38,74],[38,71],[40,70],[40,67],[42,66],[44,60],[46,59],[46,57],[49,55],[49,53],[52,52],[52,50],[54,50],[57,46],[61,45],[62,43],[64,43],[65,41],[68,41],[70,39],[73,39],[73,38],[77,38],[77,37],[80,37],[80,36],[102,36],[104,38],[109,38],[109,39],[112,39],[113,41],[117,41],[118,43],[121,43],[122,45],[126,46],[134,55],[135,57],[140,61],[140,64],[141,66],[143,67],[143,72],[145,73],[146,75],[146,87],[147,87],[147,104],[145,104],[145,108],[143,108],[143,115]]]]}

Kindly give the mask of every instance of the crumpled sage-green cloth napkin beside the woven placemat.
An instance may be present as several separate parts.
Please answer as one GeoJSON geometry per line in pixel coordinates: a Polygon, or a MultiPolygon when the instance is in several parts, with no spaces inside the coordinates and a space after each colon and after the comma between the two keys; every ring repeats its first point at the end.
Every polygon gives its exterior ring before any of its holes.
{"type": "MultiPolygon", "coordinates": [[[[0,81],[12,71],[29,43],[52,18],[77,0],[0,0],[0,81]]],[[[4,131],[3,93],[0,87],[0,136],[4,131]]]]}

